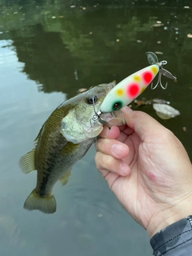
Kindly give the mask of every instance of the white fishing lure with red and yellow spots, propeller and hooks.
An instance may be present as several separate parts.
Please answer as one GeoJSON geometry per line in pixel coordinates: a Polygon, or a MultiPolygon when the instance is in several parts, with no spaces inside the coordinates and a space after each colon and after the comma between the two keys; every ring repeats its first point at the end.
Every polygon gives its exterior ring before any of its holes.
{"type": "Polygon", "coordinates": [[[122,107],[130,104],[134,98],[137,98],[138,95],[142,94],[142,92],[146,90],[146,87],[150,85],[157,74],[158,82],[154,87],[153,83],[151,84],[152,90],[154,90],[158,84],[160,84],[163,90],[166,90],[167,83],[166,86],[162,86],[162,75],[170,79],[177,79],[173,74],[170,74],[169,71],[163,69],[162,66],[166,65],[166,61],[158,62],[157,55],[152,52],[146,52],[146,56],[150,66],[147,66],[142,70],[138,70],[114,86],[103,100],[100,110],[95,112],[94,116],[91,118],[92,121],[96,122],[96,120],[98,120],[99,122],[102,122],[104,121],[101,118],[102,114],[120,110],[122,107]]]}

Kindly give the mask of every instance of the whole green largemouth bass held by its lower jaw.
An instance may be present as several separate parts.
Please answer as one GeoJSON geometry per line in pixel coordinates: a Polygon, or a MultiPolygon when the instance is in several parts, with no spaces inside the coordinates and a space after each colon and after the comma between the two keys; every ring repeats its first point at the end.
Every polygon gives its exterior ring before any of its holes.
{"type": "MultiPolygon", "coordinates": [[[[25,209],[48,214],[56,211],[52,194],[54,184],[58,180],[62,185],[66,184],[74,163],[86,154],[94,139],[102,132],[102,123],[91,120],[114,86],[114,82],[95,86],[63,102],[50,114],[34,140],[34,149],[19,161],[24,173],[37,170],[37,184],[26,198],[25,209]]],[[[110,125],[124,123],[121,110],[103,114],[102,120],[110,125]]]]}

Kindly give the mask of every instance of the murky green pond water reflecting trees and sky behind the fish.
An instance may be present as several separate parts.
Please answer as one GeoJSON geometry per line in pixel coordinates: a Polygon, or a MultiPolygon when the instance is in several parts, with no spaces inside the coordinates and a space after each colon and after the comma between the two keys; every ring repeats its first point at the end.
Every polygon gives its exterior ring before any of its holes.
{"type": "Polygon", "coordinates": [[[184,6],[192,8],[190,0],[0,0],[1,255],[151,255],[146,231],[94,167],[94,147],[65,187],[54,186],[58,210],[51,215],[23,210],[36,174],[22,174],[18,159],[63,100],[147,66],[149,50],[168,61],[178,82],[148,88],[139,99],[163,98],[181,115],[162,121],[152,106],[142,110],[172,130],[192,158],[192,9],[184,6]]]}

